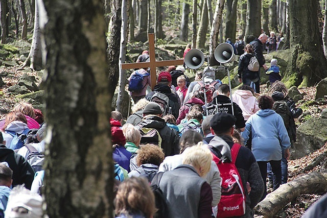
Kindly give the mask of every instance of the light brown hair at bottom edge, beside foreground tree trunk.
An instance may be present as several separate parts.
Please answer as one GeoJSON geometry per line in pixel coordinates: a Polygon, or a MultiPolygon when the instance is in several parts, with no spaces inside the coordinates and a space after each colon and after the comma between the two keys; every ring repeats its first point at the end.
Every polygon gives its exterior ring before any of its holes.
{"type": "Polygon", "coordinates": [[[131,177],[122,182],[118,187],[114,205],[116,215],[128,216],[141,211],[145,217],[150,218],[157,210],[150,185],[142,177],[131,177]]]}

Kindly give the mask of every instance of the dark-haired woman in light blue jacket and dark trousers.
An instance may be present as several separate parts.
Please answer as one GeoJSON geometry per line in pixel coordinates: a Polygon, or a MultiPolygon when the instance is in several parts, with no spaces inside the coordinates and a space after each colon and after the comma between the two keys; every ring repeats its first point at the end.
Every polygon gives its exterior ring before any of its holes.
{"type": "MultiPolygon", "coordinates": [[[[264,181],[267,178],[267,163],[269,162],[273,172],[273,190],[282,183],[281,159],[285,151],[285,158],[290,158],[290,138],[288,137],[283,118],[272,110],[273,100],[268,95],[259,98],[260,110],[246,122],[242,132],[244,141],[252,132],[252,153],[258,162],[261,176],[264,181]]],[[[262,199],[267,195],[267,186],[262,199]]]]}

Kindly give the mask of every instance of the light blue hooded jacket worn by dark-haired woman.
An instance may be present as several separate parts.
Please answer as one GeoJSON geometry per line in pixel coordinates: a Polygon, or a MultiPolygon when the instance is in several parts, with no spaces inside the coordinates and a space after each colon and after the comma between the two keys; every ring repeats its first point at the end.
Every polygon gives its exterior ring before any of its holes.
{"type": "Polygon", "coordinates": [[[244,141],[252,132],[252,153],[256,161],[282,159],[283,150],[290,147],[283,118],[272,109],[259,110],[246,122],[245,130],[241,133],[244,141]]]}

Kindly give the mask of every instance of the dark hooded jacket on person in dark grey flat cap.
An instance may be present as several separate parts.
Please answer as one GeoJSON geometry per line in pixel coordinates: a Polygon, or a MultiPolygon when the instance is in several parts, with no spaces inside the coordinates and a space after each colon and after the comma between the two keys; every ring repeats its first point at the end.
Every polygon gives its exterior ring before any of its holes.
{"type": "Polygon", "coordinates": [[[153,128],[156,129],[161,136],[161,148],[164,150],[165,156],[171,156],[179,153],[179,134],[176,130],[168,127],[166,121],[156,115],[147,115],[143,117],[138,128],[153,128]]]}

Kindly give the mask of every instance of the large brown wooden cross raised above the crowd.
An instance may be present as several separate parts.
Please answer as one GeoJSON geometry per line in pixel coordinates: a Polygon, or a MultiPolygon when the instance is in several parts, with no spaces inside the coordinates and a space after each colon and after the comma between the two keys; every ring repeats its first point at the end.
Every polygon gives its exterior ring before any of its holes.
{"type": "Polygon", "coordinates": [[[122,64],[122,69],[134,69],[134,68],[146,68],[150,67],[151,77],[151,89],[154,89],[156,85],[156,67],[159,66],[171,66],[171,65],[183,65],[184,60],[168,60],[168,61],[156,61],[154,51],[154,33],[149,33],[149,55],[150,62],[139,62],[139,63],[126,63],[122,64]]]}

